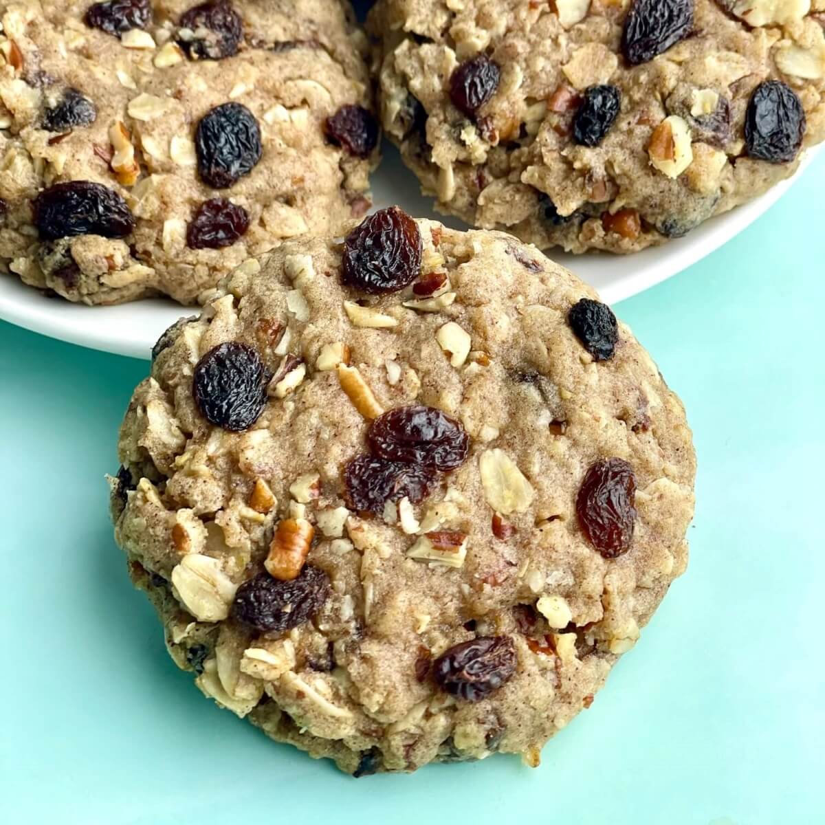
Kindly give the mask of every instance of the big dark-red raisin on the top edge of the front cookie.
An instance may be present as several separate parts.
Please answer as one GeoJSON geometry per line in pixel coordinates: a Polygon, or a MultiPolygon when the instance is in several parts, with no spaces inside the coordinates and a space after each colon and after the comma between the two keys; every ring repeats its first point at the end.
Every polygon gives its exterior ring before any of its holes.
{"type": "Polygon", "coordinates": [[[343,281],[374,294],[403,290],[421,274],[418,224],[398,206],[361,222],[344,241],[343,281]]]}

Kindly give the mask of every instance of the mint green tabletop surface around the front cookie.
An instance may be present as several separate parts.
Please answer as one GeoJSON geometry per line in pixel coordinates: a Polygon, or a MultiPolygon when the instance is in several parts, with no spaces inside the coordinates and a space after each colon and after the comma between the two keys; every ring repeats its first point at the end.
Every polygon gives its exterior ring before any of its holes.
{"type": "Polygon", "coordinates": [[[205,700],[111,539],[103,474],[147,370],[0,324],[0,821],[823,821],[825,156],[619,312],[684,398],[691,566],[592,708],[513,757],[353,780],[205,700]]]}

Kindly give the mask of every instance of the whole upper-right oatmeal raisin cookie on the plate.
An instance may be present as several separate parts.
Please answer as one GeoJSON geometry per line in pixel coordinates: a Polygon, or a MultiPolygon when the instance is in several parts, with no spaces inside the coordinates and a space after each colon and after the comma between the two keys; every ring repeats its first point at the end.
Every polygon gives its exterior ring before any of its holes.
{"type": "Polygon", "coordinates": [[[379,0],[384,130],[436,208],[635,252],[825,138],[823,0],[379,0]]]}

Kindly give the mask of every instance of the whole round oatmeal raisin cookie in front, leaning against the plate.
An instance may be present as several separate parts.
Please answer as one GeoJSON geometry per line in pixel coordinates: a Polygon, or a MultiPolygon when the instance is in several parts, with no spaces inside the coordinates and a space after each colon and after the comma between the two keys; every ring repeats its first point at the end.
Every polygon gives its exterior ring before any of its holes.
{"type": "Polygon", "coordinates": [[[119,454],[172,658],[354,775],[537,764],[687,563],[691,432],[629,328],[535,247],[396,208],[229,276],[119,454]]]}

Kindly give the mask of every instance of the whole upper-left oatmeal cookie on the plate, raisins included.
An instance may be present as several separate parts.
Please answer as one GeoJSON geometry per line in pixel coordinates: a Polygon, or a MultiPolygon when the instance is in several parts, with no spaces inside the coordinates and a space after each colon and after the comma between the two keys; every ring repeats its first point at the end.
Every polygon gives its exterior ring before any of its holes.
{"type": "Polygon", "coordinates": [[[86,304],[196,303],[341,232],[378,126],[340,0],[0,2],[0,266],[86,304]]]}

